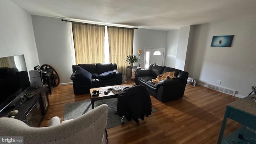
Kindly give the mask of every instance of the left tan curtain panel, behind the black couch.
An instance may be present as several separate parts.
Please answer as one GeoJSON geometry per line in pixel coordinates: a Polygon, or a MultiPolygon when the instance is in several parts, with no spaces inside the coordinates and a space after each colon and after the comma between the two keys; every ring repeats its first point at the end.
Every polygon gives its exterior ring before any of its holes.
{"type": "Polygon", "coordinates": [[[105,27],[72,22],[76,64],[104,63],[105,27]]]}

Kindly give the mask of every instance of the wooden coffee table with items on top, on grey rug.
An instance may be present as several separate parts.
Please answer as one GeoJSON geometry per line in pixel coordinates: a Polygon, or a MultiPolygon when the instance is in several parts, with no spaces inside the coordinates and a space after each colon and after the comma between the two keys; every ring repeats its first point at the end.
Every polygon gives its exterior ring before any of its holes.
{"type": "Polygon", "coordinates": [[[115,86],[128,86],[128,87],[132,87],[131,84],[120,84],[120,85],[114,85],[114,86],[104,86],[104,87],[100,87],[100,88],[91,88],[90,89],[90,99],[91,99],[91,103],[92,103],[92,109],[94,109],[94,102],[96,102],[97,100],[104,100],[104,99],[108,99],[108,98],[117,98],[118,94],[115,94],[112,92],[112,90],[110,90],[110,92],[108,94],[104,94],[104,91],[107,90],[108,88],[112,88],[115,86]],[[92,96],[92,91],[94,90],[98,90],[100,92],[100,94],[98,96],[92,96]]]}

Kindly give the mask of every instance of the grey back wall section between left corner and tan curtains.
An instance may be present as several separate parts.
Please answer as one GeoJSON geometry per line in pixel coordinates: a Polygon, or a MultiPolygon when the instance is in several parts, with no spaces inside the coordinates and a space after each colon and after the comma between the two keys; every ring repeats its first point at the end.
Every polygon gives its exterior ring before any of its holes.
{"type": "Polygon", "coordinates": [[[72,82],[72,59],[67,22],[61,18],[32,15],[40,66],[49,64],[60,77],[60,84],[72,82]]]}

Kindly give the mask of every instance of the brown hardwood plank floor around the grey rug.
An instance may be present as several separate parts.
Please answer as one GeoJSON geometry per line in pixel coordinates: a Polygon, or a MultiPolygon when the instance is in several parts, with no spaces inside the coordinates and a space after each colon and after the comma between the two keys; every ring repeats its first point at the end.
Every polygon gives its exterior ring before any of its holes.
{"type": "MultiPolygon", "coordinates": [[[[108,129],[109,144],[216,144],[226,104],[239,99],[188,84],[184,97],[179,100],[162,103],[150,97],[157,112],[139,124],[132,120],[108,129]]],[[[57,86],[52,89],[50,108],[41,126],[47,126],[53,116],[63,120],[66,103],[88,98],[90,94],[75,96],[72,85],[57,86]]],[[[228,120],[225,134],[239,126],[237,122],[228,120]]]]}

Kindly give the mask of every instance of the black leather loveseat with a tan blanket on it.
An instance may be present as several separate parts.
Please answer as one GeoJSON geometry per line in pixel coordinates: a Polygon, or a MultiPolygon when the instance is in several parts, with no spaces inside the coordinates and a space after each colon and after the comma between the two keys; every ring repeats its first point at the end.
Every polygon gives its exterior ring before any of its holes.
{"type": "Polygon", "coordinates": [[[188,72],[157,64],[150,64],[147,70],[135,70],[135,83],[146,86],[149,94],[162,102],[182,98],[187,79],[188,72]],[[166,72],[174,72],[174,76],[177,78],[161,80],[157,84],[152,82],[152,79],[166,72]]]}

